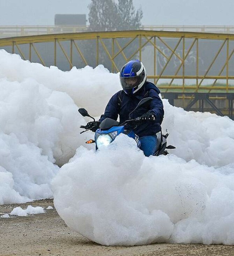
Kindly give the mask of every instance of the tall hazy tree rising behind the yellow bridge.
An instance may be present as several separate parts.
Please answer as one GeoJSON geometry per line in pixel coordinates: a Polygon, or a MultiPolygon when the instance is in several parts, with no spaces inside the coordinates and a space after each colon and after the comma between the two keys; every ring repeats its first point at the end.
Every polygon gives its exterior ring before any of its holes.
{"type": "MultiPolygon", "coordinates": [[[[117,31],[136,30],[141,26],[143,16],[141,8],[135,11],[132,0],[91,0],[89,8],[89,29],[88,31],[117,31]]],[[[112,52],[111,39],[105,39],[109,53],[112,52]]],[[[124,46],[129,39],[118,39],[120,46],[124,46]]],[[[80,43],[83,55],[91,66],[96,65],[96,42],[84,41],[80,43]]],[[[138,42],[133,41],[131,47],[124,49],[124,53],[129,58],[138,48],[138,42]]],[[[119,49],[117,49],[119,51],[119,49]]],[[[100,44],[98,61],[109,70],[112,69],[112,62],[100,44]]],[[[122,55],[115,58],[115,63],[120,69],[125,60],[122,55]]],[[[79,66],[82,66],[83,63],[79,66]]]]}

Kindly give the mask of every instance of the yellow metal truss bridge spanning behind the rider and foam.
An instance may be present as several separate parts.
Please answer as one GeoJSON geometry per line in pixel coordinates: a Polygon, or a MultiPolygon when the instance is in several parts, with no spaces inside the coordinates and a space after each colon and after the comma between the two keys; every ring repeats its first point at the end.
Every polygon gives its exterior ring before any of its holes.
{"type": "Polygon", "coordinates": [[[172,104],[180,101],[188,110],[233,118],[234,34],[146,30],[47,34],[3,38],[0,48],[64,70],[103,64],[119,72],[125,62],[137,58],[172,104]]]}

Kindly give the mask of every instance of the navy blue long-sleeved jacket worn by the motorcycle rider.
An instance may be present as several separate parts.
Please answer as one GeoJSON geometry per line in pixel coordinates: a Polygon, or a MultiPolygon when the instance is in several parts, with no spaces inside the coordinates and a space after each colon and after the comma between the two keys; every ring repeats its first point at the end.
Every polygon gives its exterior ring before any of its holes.
{"type": "Polygon", "coordinates": [[[120,92],[121,91],[117,92],[111,97],[107,107],[105,108],[105,113],[104,115],[101,115],[99,121],[102,122],[107,117],[117,120],[119,115],[119,122],[123,123],[124,121],[129,120],[129,118],[133,119],[140,117],[149,111],[155,116],[155,121],[140,124],[136,129],[134,129],[134,132],[139,137],[142,137],[154,135],[161,130],[160,124],[162,123],[164,115],[163,104],[159,97],[160,90],[153,83],[148,81],[145,82],[145,85],[138,92],[136,92],[136,95],[134,94],[133,96],[129,96],[123,92],[121,108],[118,106],[118,96],[120,92]],[[145,96],[147,91],[148,95],[145,96]],[[150,106],[148,108],[141,107],[129,116],[129,113],[131,113],[133,109],[137,107],[138,103],[144,98],[144,96],[153,98],[150,106]]]}

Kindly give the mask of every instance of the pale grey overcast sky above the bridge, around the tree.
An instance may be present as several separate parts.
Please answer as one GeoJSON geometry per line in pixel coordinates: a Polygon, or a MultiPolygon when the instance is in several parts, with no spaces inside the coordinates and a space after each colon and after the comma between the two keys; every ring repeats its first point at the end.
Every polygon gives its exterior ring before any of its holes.
{"type": "MultiPolygon", "coordinates": [[[[54,15],[87,14],[91,0],[0,0],[0,26],[54,25],[54,15]]],[[[234,25],[234,0],[133,0],[142,25],[234,25]]]]}

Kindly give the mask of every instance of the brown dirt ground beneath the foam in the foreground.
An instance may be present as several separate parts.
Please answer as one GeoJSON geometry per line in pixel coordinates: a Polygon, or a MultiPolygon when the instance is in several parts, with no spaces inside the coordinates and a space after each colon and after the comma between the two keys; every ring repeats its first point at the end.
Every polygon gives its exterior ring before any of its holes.
{"type": "MultiPolygon", "coordinates": [[[[25,204],[0,205],[0,215],[13,208],[28,205],[47,208],[52,199],[25,204]]],[[[57,211],[27,217],[0,218],[0,256],[5,255],[66,255],[66,256],[158,256],[158,255],[234,255],[234,246],[202,244],[151,244],[133,247],[102,246],[73,232],[57,211]]]]}

